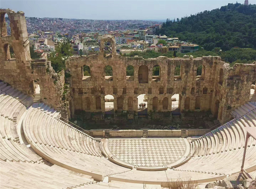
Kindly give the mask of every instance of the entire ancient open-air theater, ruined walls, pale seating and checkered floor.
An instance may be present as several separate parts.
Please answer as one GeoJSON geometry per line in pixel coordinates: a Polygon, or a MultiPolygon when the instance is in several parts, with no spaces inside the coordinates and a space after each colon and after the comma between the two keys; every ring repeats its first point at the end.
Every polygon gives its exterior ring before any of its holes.
{"type": "Polygon", "coordinates": [[[256,170],[256,62],[230,67],[218,56],[122,57],[105,35],[98,55],[72,56],[56,73],[46,58],[31,59],[24,12],[0,9],[0,18],[1,188],[171,188],[177,180],[221,185],[256,170]],[[90,76],[84,76],[86,66],[90,76]],[[128,66],[133,76],[126,75],[128,66]],[[179,113],[210,111],[219,124],[90,131],[68,121],[83,111],[88,120],[106,123],[105,96],[112,95],[111,121],[136,122],[141,94],[151,115],[145,121],[171,123],[176,95],[179,113]]]}

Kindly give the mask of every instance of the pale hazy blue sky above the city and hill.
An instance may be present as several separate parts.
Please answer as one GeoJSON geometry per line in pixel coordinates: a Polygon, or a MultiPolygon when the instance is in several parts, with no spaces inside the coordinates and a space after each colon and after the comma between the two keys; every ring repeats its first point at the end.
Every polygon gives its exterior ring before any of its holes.
{"type": "MultiPolygon", "coordinates": [[[[237,1],[243,4],[243,1],[237,1]]],[[[0,8],[24,11],[27,17],[78,19],[181,18],[236,3],[232,0],[0,0],[0,8]]],[[[255,0],[249,0],[255,4],[255,0]]]]}

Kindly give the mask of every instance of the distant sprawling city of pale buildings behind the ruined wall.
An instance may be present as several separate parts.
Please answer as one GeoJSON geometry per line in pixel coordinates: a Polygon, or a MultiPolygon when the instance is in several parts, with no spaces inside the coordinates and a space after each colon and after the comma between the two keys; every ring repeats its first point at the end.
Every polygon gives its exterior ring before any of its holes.
{"type": "MultiPolygon", "coordinates": [[[[9,19],[6,17],[7,26],[9,19]]],[[[115,37],[117,53],[154,50],[156,52],[189,53],[199,49],[196,44],[180,41],[171,36],[157,36],[156,30],[163,22],[150,20],[88,20],[68,18],[26,17],[30,47],[41,58],[53,52],[58,43],[68,39],[73,55],[91,55],[99,52],[99,39],[104,34],[115,37]],[[161,40],[161,43],[158,43],[161,40]]],[[[7,27],[7,33],[11,33],[7,27]]],[[[111,52],[111,45],[105,47],[111,52]]]]}

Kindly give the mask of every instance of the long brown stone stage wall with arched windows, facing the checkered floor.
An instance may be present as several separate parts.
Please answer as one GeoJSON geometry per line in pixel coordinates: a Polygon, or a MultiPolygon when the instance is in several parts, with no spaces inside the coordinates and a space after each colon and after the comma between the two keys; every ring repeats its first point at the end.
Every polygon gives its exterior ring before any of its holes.
{"type": "MultiPolygon", "coordinates": [[[[109,38],[108,36],[108,41],[109,38]]],[[[211,110],[218,120],[225,122],[230,117],[229,112],[232,108],[249,100],[250,87],[256,78],[255,64],[235,64],[234,67],[230,67],[218,56],[201,58],[160,56],[143,59],[142,57],[120,57],[114,51],[113,54],[112,57],[103,57],[101,52],[100,55],[71,57],[66,61],[66,68],[71,74],[72,90],[70,91],[73,104],[71,115],[75,110],[104,113],[104,96],[108,94],[114,96],[115,114],[120,111],[117,101],[119,99],[120,102],[121,99],[123,105],[121,110],[130,113],[130,118],[136,115],[137,97],[140,94],[148,96],[148,111],[153,109],[153,98],[156,97],[158,102],[156,112],[169,112],[172,107],[172,95],[179,94],[181,112],[193,111],[197,108],[201,111],[211,110]],[[83,77],[83,65],[90,67],[90,77],[83,77]],[[112,66],[112,80],[105,78],[106,65],[112,66]],[[128,65],[134,67],[134,78],[126,79],[128,65]],[[153,67],[156,65],[160,66],[160,76],[157,79],[152,76],[153,67]],[[175,67],[179,65],[180,76],[174,76],[175,67]],[[202,76],[196,76],[199,65],[203,66],[202,76]],[[148,68],[148,80],[139,76],[140,73],[147,73],[145,69],[139,70],[140,66],[148,68]],[[222,73],[220,73],[221,69],[222,73]],[[168,98],[167,109],[163,109],[165,97],[168,98]],[[190,100],[186,100],[187,97],[190,100]],[[97,98],[100,98],[100,108],[96,107],[97,98]],[[132,99],[132,107],[128,107],[129,99],[132,99]]],[[[104,117],[101,116],[101,118],[104,117]]]]}

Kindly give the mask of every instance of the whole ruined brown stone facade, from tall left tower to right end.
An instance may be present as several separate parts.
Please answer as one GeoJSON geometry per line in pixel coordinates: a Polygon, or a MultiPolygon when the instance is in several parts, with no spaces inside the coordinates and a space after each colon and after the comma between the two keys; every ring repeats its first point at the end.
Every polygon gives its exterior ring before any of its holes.
{"type": "Polygon", "coordinates": [[[76,110],[88,113],[88,118],[104,120],[104,96],[114,96],[114,119],[134,119],[140,94],[148,96],[148,112],[153,119],[171,119],[173,94],[179,94],[179,109],[207,111],[224,123],[231,109],[249,100],[252,82],[256,79],[254,64],[235,64],[230,67],[218,56],[201,58],[121,57],[116,54],[115,39],[106,35],[100,40],[99,55],[73,56],[66,60],[69,85],[64,85],[64,70],[55,73],[51,62],[32,60],[24,12],[1,9],[0,79],[29,95],[34,94],[34,81],[40,84],[41,100],[61,110],[63,117],[72,117],[76,110]],[[7,36],[4,15],[8,14],[11,36],[7,36]],[[112,55],[104,57],[104,42],[111,42],[112,55]],[[10,57],[11,44],[15,59],[10,57]],[[89,66],[91,76],[84,76],[83,66],[89,66]],[[111,66],[113,76],[105,76],[105,66],[111,66]],[[132,65],[134,76],[126,76],[132,65]],[[159,76],[153,67],[160,66],[159,76]],[[201,76],[196,76],[202,65],[201,76]],[[174,76],[176,66],[180,75],[174,76]],[[70,90],[69,90],[70,89],[70,90]],[[69,98],[70,96],[70,98],[69,98]],[[69,111],[70,110],[70,111],[69,111]],[[124,115],[123,117],[120,115],[124,115]]]}

